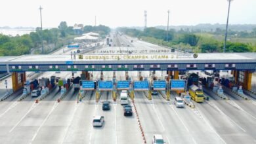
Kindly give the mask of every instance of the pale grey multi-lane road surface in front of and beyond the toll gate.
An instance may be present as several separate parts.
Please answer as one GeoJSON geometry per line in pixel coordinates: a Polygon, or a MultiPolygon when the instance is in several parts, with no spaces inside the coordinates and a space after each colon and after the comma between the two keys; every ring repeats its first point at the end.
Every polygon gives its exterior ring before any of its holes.
{"type": "MultiPolygon", "coordinates": [[[[117,43],[127,44],[129,39],[122,36],[117,43]]],[[[132,45],[161,48],[135,39],[132,45]]],[[[137,71],[128,74],[133,81],[138,79],[137,71]]],[[[43,73],[40,77],[51,75],[71,77],[71,72],[43,73]]],[[[104,71],[103,75],[104,80],[112,80],[113,71],[104,71]]],[[[157,77],[165,75],[165,72],[156,71],[157,77]]],[[[150,71],[142,71],[142,77],[150,79],[150,71]]],[[[93,80],[99,78],[100,71],[93,72],[93,80]]],[[[124,80],[125,71],[116,72],[116,79],[124,80]]],[[[21,95],[16,94],[0,102],[0,143],[152,143],[154,134],[163,135],[167,143],[256,143],[256,105],[253,103],[256,99],[242,99],[224,88],[230,99],[223,100],[211,90],[203,89],[210,99],[195,103],[195,109],[175,107],[175,92],[171,92],[170,101],[160,94],[148,100],[146,93],[135,92],[132,117],[123,115],[120,98],[113,101],[112,92],[101,92],[96,102],[95,91],[87,91],[78,103],[78,91],[73,88],[60,103],[57,102],[60,98],[58,88],[39,103],[31,96],[18,101],[21,95]],[[102,111],[104,100],[111,102],[110,111],[102,111]],[[93,127],[95,115],[105,117],[101,128],[93,127]]]]}

